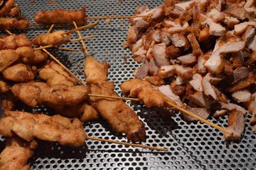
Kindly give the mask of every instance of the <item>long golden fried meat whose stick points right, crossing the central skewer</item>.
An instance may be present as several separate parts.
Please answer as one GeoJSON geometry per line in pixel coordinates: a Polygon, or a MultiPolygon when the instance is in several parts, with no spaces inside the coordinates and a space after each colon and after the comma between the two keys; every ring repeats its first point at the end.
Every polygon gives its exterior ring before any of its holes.
{"type": "Polygon", "coordinates": [[[81,85],[68,87],[64,84],[49,87],[47,83],[31,81],[13,85],[12,93],[31,107],[49,104],[54,108],[58,104],[74,106],[81,103],[88,97],[90,89],[81,85]]]}

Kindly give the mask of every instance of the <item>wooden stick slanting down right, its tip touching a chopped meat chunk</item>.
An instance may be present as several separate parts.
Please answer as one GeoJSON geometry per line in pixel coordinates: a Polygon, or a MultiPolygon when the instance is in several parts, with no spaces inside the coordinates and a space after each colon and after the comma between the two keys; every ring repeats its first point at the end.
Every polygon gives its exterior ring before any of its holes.
{"type": "Polygon", "coordinates": [[[202,117],[199,117],[198,115],[195,115],[194,113],[188,111],[188,110],[184,110],[184,108],[180,108],[179,106],[177,106],[176,104],[173,104],[173,103],[170,103],[170,102],[166,102],[169,106],[172,106],[173,108],[176,108],[177,110],[179,111],[182,111],[183,113],[186,113],[187,115],[191,116],[191,117],[194,117],[198,120],[200,120],[201,122],[204,122],[205,124],[208,124],[208,125],[211,125],[212,127],[215,127],[216,129],[219,129],[220,131],[223,131],[227,134],[230,134],[232,135],[233,133],[228,131],[227,129],[223,128],[223,127],[220,127],[219,125],[216,125],[212,122],[209,122],[208,120],[202,118],[202,117]]]}

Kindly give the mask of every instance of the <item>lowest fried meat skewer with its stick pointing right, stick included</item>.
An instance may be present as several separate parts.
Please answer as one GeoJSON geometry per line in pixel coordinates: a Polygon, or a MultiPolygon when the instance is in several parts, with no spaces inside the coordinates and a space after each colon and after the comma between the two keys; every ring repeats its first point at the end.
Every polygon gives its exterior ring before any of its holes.
{"type": "Polygon", "coordinates": [[[38,138],[46,141],[57,141],[60,145],[73,147],[83,146],[85,140],[92,139],[108,143],[167,151],[166,148],[87,136],[84,132],[83,124],[77,118],[71,120],[70,118],[61,117],[60,115],[50,117],[44,114],[31,114],[24,111],[4,111],[4,114],[6,117],[0,119],[0,134],[7,137],[13,136],[13,133],[15,133],[21,138],[26,139],[26,141],[38,138]]]}

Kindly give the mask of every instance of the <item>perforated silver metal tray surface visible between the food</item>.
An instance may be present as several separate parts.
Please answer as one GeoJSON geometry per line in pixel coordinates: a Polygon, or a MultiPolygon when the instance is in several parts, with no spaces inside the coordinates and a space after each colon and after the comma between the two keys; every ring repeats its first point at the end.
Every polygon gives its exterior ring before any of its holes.
{"type": "MultiPolygon", "coordinates": [[[[132,15],[139,4],[151,8],[162,1],[57,1],[48,4],[47,1],[17,1],[22,14],[31,19],[36,11],[63,9],[81,9],[86,5],[88,16],[132,15]]],[[[93,22],[93,21],[90,21],[93,22]]],[[[81,31],[83,36],[97,34],[96,38],[88,39],[86,45],[90,54],[97,60],[107,60],[109,81],[115,81],[115,90],[122,95],[119,86],[125,80],[133,77],[133,71],[139,64],[132,59],[131,52],[124,50],[129,22],[127,19],[112,20],[110,24],[100,21],[93,29],[81,31]],[[127,57],[127,60],[124,59],[127,57]]],[[[47,29],[29,28],[30,38],[46,32],[47,29]]],[[[77,35],[73,35],[77,38],[77,35]]],[[[65,45],[75,48],[77,52],[51,51],[73,73],[84,80],[84,55],[79,52],[79,43],[65,45]]],[[[141,103],[127,102],[145,123],[147,140],[143,145],[161,146],[169,152],[151,152],[147,149],[131,148],[128,146],[86,141],[83,148],[69,148],[57,144],[40,143],[33,159],[31,169],[256,169],[256,140],[255,134],[248,125],[250,115],[246,117],[246,130],[240,142],[226,143],[223,133],[200,122],[187,123],[180,115],[170,117],[163,110],[148,110],[141,103]]],[[[48,113],[46,108],[36,111],[48,113]]],[[[227,117],[210,120],[218,125],[227,127],[227,117]]],[[[126,141],[126,139],[111,130],[104,120],[84,124],[89,136],[126,141]]]]}

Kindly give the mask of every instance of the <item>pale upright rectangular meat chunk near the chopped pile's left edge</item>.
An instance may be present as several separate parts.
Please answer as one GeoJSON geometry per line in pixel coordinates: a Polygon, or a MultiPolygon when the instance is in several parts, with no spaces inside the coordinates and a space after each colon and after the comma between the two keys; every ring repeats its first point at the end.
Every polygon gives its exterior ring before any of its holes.
{"type": "Polygon", "coordinates": [[[154,45],[153,56],[158,66],[170,65],[165,55],[166,45],[165,43],[154,45]]]}

